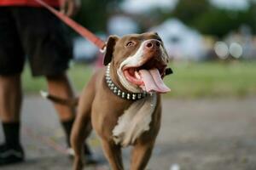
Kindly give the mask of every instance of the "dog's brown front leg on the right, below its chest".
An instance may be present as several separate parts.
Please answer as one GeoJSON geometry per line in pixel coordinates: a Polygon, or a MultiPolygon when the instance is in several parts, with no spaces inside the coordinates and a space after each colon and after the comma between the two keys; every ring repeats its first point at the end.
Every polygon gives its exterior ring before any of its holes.
{"type": "Polygon", "coordinates": [[[135,144],[131,155],[131,170],[143,170],[147,166],[154,147],[154,142],[135,144]]]}

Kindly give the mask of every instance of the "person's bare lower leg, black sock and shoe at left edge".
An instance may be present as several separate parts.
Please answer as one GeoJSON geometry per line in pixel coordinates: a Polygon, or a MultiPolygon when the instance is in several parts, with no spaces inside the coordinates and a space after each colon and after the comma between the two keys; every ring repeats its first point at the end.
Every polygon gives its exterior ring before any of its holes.
{"type": "Polygon", "coordinates": [[[20,74],[0,76],[0,119],[5,142],[0,145],[0,166],[24,160],[20,144],[20,74]]]}

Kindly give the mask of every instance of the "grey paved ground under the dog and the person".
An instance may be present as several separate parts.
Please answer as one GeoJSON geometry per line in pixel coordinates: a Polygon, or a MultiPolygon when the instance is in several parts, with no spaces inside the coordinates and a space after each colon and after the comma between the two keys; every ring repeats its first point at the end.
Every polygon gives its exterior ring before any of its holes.
{"type": "MultiPolygon", "coordinates": [[[[256,98],[166,99],[163,106],[162,127],[148,169],[256,169],[256,98]]],[[[1,170],[71,169],[72,162],[62,153],[65,142],[52,105],[27,97],[22,112],[26,162],[1,170]]],[[[94,134],[90,145],[96,156],[103,159],[94,134]]],[[[126,169],[129,151],[124,152],[126,169]]],[[[84,169],[108,169],[108,163],[102,161],[97,167],[84,169]]]]}

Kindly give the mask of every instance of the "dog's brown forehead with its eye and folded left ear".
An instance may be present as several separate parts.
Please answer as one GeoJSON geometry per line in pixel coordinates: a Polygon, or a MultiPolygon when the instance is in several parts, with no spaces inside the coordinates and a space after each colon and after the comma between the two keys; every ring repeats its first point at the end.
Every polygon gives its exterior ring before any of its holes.
{"type": "Polygon", "coordinates": [[[115,60],[122,60],[135,54],[141,44],[149,39],[156,39],[161,42],[161,39],[156,32],[128,34],[124,37],[110,36],[107,42],[104,65],[107,65],[113,59],[113,56],[115,60]]]}

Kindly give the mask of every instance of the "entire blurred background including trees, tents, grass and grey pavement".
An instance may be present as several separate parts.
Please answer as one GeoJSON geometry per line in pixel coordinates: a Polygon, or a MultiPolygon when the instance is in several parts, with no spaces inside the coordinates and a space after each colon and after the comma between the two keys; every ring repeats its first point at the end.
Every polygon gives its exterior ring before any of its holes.
{"type": "MultiPolygon", "coordinates": [[[[256,169],[255,0],[82,0],[75,20],[103,40],[111,34],[157,31],[165,43],[174,71],[165,82],[172,92],[164,95],[162,126],[148,169],[256,169]]],[[[102,54],[70,34],[75,58],[68,74],[79,94],[102,54]]],[[[55,110],[38,96],[46,89],[44,78],[33,79],[26,68],[23,88],[28,161],[3,169],[70,169],[71,161],[60,151],[65,144],[55,110]]],[[[103,159],[95,133],[89,144],[103,159]]],[[[124,152],[125,167],[129,153],[124,152]]],[[[106,161],[87,168],[109,169],[106,161]]]]}

